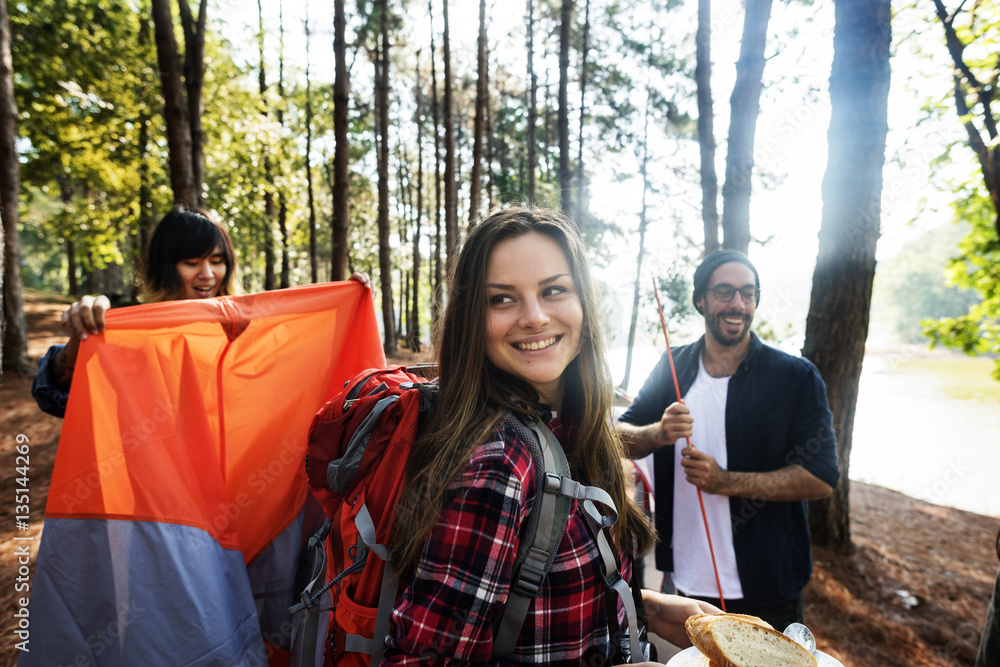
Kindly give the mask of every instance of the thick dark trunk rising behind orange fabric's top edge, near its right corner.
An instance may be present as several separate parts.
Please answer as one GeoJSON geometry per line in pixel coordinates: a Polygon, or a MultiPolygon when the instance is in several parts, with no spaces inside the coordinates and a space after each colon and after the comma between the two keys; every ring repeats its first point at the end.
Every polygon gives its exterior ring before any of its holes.
{"type": "Polygon", "coordinates": [[[333,52],[336,74],[333,83],[333,218],[330,220],[332,266],[330,280],[347,277],[347,228],[348,228],[348,117],[350,104],[350,79],[347,71],[347,41],[344,36],[347,19],[344,0],[334,0],[333,52]]]}

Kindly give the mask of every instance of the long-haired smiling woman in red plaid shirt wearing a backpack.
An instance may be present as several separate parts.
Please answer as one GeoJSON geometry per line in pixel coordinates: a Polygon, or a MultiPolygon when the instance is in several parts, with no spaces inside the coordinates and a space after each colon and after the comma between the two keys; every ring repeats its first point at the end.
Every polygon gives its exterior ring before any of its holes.
{"type": "MultiPolygon", "coordinates": [[[[541,209],[494,213],[469,235],[447,304],[437,338],[440,390],[396,515],[410,529],[395,531],[391,545],[409,582],[392,613],[391,664],[500,660],[496,626],[542,493],[532,424],[558,441],[574,480],[613,500],[614,551],[626,579],[632,555],[655,539],[627,494],[597,293],[572,224],[541,209]]],[[[597,534],[607,531],[583,506],[572,501],[552,567],[503,662],[608,664],[628,646],[609,630],[624,615],[601,575],[597,534]]],[[[649,629],[678,645],[689,645],[687,616],[717,611],[649,591],[642,598],[649,629]]]]}

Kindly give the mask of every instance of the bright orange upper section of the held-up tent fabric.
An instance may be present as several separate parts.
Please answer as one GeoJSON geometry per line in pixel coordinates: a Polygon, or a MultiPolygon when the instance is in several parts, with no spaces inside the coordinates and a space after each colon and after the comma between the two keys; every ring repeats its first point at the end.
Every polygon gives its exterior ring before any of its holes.
{"type": "Polygon", "coordinates": [[[316,411],[384,364],[353,282],[112,310],[81,346],[46,517],[186,524],[250,562],[302,505],[316,411]]]}

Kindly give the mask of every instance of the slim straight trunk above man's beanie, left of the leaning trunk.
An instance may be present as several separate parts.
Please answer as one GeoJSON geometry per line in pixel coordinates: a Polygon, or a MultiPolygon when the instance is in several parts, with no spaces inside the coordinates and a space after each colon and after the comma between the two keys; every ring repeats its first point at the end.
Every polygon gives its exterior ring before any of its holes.
{"type": "Polygon", "coordinates": [[[708,255],[719,249],[719,179],[715,173],[715,112],[712,109],[712,0],[698,0],[698,35],[695,42],[701,219],[705,226],[705,255],[708,255]]]}

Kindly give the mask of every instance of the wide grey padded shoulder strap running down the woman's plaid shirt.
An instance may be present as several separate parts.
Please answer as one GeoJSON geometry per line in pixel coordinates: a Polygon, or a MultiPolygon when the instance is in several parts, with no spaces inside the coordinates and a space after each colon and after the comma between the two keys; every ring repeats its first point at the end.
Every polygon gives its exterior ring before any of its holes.
{"type": "Polygon", "coordinates": [[[514,652],[528,606],[552,567],[556,550],[566,532],[570,511],[569,497],[560,493],[562,480],[569,478],[569,462],[559,441],[544,424],[536,422],[529,427],[514,417],[509,417],[506,423],[529,443],[536,467],[541,460],[539,472],[543,474],[540,477],[541,502],[536,501],[534,512],[537,522],[533,529],[529,527],[527,548],[522,546],[514,562],[514,578],[507,604],[493,635],[494,660],[507,659],[514,652]]]}

